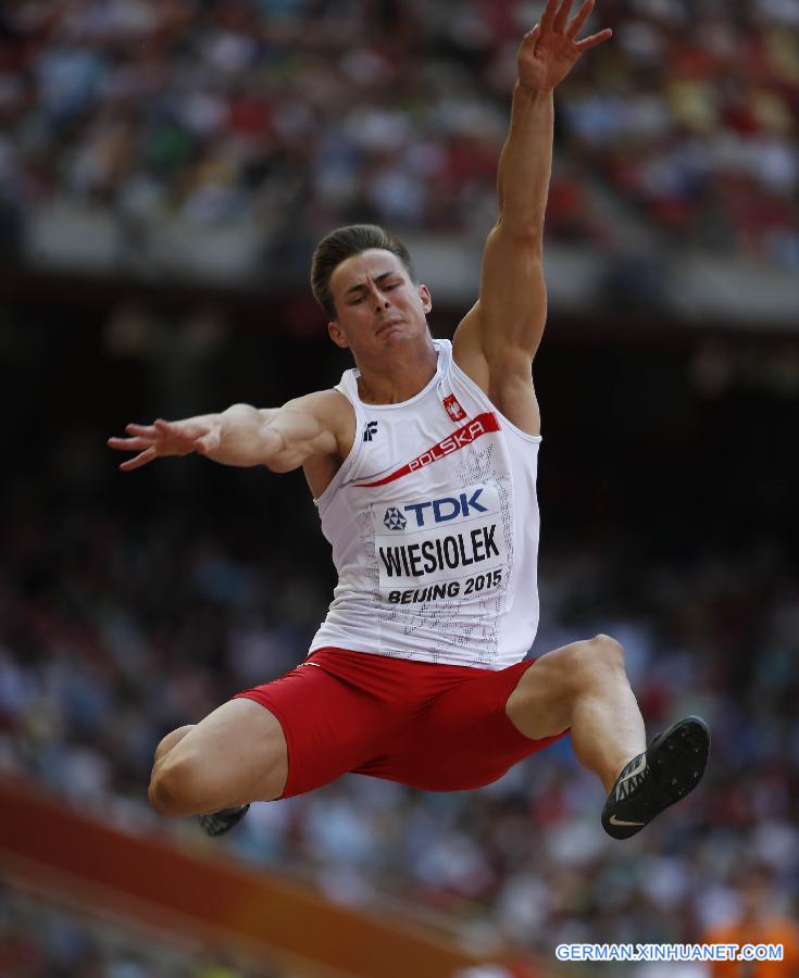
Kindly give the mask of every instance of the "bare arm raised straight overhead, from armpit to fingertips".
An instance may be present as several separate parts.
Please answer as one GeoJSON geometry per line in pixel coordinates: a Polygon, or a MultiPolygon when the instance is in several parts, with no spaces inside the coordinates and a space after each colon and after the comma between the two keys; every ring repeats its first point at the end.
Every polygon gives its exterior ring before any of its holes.
{"type": "Polygon", "coordinates": [[[542,241],[552,166],[552,89],[584,51],[611,36],[601,30],[576,40],[594,0],[586,0],[569,24],[572,3],[548,0],[540,24],[522,39],[510,131],[497,174],[499,217],[483,254],[479,299],[453,340],[458,364],[532,434],[537,434],[538,409],[530,361],[547,318],[542,241]]]}

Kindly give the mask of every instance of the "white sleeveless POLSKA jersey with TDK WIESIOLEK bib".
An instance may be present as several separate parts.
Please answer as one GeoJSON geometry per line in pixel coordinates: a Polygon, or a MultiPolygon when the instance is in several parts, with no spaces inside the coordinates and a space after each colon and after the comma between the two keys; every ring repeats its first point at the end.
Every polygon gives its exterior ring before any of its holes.
{"type": "Polygon", "coordinates": [[[336,388],[355,440],[315,500],[338,586],[325,645],[502,669],[538,627],[540,437],[503,417],[434,340],[438,369],[400,404],[364,404],[357,369],[336,388]]]}

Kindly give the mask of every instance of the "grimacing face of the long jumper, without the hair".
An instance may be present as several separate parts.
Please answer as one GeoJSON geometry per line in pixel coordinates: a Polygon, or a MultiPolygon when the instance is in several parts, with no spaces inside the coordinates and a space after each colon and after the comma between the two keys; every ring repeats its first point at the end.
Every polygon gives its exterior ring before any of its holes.
{"type": "Polygon", "coordinates": [[[330,276],[336,318],[327,324],[333,341],[350,347],[355,359],[427,336],[430,293],[414,285],[390,251],[372,248],[341,262],[330,276]]]}

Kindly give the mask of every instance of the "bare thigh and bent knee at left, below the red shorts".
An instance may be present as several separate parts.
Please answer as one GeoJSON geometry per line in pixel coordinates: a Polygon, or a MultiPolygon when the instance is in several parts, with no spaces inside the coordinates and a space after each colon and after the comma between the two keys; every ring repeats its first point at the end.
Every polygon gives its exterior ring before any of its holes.
{"type": "Polygon", "coordinates": [[[215,812],[279,798],[287,776],[277,718],[252,700],[230,700],[159,757],[150,801],[164,815],[215,812]]]}

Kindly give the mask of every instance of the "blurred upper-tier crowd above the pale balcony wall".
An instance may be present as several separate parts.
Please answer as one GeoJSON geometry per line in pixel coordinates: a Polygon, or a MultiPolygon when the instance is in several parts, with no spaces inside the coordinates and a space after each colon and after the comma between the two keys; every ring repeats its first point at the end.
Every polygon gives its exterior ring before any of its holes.
{"type": "MultiPolygon", "coordinates": [[[[0,11],[0,224],[98,205],[308,242],[374,220],[474,234],[526,0],[26,0],[0,11]]],[[[550,238],[799,268],[799,0],[602,0],[558,95],[550,238]]]]}

